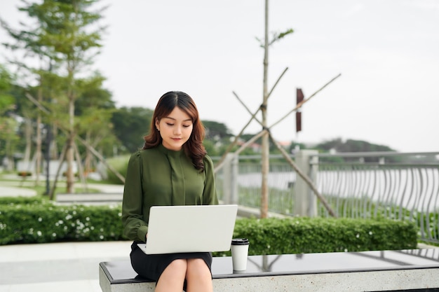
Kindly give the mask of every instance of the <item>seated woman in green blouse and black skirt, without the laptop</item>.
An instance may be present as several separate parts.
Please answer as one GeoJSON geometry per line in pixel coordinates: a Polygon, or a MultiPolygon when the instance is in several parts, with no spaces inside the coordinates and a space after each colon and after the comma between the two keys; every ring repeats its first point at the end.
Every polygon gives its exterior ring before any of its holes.
{"type": "Polygon", "coordinates": [[[147,240],[151,206],[218,204],[213,163],[203,138],[194,100],[184,92],[167,92],[158,100],[142,150],[128,162],[123,233],[133,240],[133,269],[156,281],[156,292],[213,290],[211,253],[147,255],[137,246],[147,240]]]}

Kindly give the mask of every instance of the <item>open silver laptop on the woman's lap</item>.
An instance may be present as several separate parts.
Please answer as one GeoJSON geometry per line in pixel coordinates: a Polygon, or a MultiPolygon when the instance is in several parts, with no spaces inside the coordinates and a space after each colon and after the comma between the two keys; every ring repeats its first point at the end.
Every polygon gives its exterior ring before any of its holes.
{"type": "Polygon", "coordinates": [[[149,211],[147,254],[229,251],[238,205],[153,206],[149,211]]]}

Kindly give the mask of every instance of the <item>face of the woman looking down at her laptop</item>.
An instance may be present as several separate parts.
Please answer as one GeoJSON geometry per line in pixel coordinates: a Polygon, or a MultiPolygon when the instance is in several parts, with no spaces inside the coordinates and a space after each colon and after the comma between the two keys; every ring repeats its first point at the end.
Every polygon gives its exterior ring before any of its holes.
{"type": "Polygon", "coordinates": [[[181,150],[191,137],[193,126],[191,117],[177,106],[168,116],[156,120],[163,146],[173,151],[181,150]]]}

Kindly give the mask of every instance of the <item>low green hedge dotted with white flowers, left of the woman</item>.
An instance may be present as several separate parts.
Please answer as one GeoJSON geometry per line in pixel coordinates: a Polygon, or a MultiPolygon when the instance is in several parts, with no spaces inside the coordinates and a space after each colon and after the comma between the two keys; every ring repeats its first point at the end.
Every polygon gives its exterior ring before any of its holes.
{"type": "Polygon", "coordinates": [[[35,198],[0,200],[0,244],[121,239],[121,206],[60,206],[35,198]]]}

